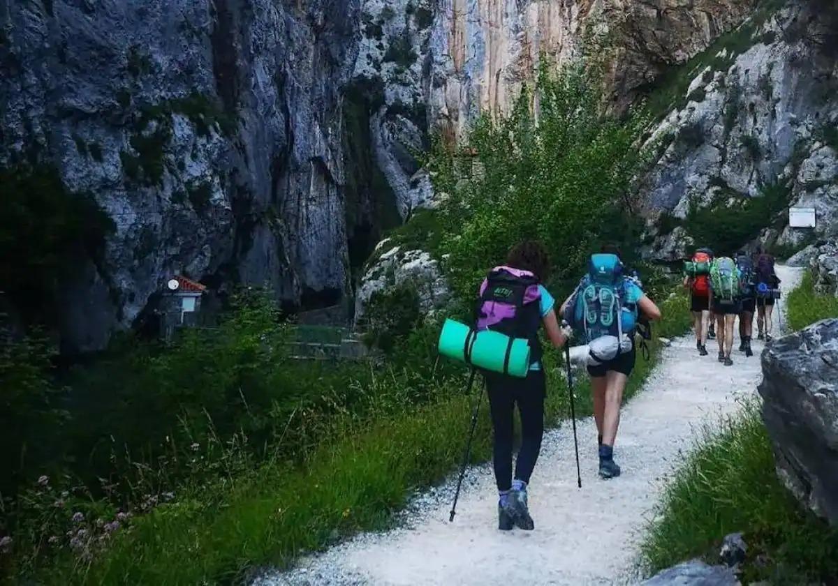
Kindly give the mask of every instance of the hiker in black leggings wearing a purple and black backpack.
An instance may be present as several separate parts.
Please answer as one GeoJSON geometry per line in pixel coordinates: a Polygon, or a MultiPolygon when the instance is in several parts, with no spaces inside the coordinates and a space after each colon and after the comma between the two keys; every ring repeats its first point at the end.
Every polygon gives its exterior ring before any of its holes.
{"type": "Polygon", "coordinates": [[[517,244],[506,265],[494,268],[480,286],[477,329],[490,329],[510,337],[530,340],[530,373],[513,378],[485,372],[489,409],[494,429],[494,478],[498,485],[498,528],[514,526],[531,530],[535,523],[527,505],[527,485],[541,450],[544,434],[546,379],[541,368],[541,342],[538,330],[544,326],[556,347],[571,335],[556,320],[556,300],[541,283],[550,270],[544,246],[535,241],[517,244]],[[521,445],[512,477],[513,412],[521,419],[521,445]]]}

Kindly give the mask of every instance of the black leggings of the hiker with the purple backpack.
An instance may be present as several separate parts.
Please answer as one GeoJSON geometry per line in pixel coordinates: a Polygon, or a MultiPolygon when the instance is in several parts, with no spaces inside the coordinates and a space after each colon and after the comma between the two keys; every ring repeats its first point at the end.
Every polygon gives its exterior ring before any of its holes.
{"type": "Polygon", "coordinates": [[[494,478],[499,491],[512,487],[512,412],[521,416],[521,448],[515,463],[515,480],[530,482],[544,435],[544,371],[532,370],[526,378],[487,374],[486,389],[494,428],[494,478]]]}

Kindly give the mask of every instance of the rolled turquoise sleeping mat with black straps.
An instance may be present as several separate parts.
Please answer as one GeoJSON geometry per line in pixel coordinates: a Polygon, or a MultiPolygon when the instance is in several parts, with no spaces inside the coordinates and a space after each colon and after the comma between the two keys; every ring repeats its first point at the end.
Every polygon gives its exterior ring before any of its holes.
{"type": "Polygon", "coordinates": [[[444,357],[494,373],[525,378],[530,370],[530,343],[500,332],[473,328],[448,319],[442,325],[437,349],[444,357]]]}

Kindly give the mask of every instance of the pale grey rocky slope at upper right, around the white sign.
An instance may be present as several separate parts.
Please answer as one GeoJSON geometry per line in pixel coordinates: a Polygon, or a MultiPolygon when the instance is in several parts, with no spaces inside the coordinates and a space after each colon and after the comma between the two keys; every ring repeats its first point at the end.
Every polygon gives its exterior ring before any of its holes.
{"type": "MultiPolygon", "coordinates": [[[[649,142],[662,152],[644,181],[649,217],[685,218],[691,204],[736,205],[776,185],[784,204],[815,208],[817,236],[838,234],[836,39],[834,5],[799,0],[757,13],[691,62],[694,79],[649,142]]],[[[779,208],[769,244],[811,238],[779,208]]]]}

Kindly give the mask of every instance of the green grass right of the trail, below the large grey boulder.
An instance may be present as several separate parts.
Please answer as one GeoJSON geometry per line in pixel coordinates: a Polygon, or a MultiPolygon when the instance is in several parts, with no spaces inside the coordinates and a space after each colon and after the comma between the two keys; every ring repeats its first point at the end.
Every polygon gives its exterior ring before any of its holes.
{"type": "Polygon", "coordinates": [[[743,532],[743,583],[838,579],[838,531],[804,513],[780,485],[755,404],[722,422],[721,432],[705,429],[666,489],[660,515],[642,546],[649,573],[694,557],[717,563],[722,537],[743,532]]]}

